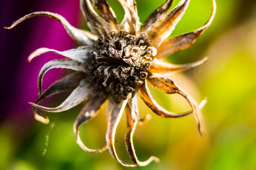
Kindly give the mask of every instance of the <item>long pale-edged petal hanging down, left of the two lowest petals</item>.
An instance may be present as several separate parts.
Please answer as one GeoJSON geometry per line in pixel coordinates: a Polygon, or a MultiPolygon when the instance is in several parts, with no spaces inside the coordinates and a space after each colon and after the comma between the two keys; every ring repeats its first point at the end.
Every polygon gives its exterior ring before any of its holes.
{"type": "Polygon", "coordinates": [[[115,150],[115,133],[116,127],[120,122],[120,118],[123,115],[124,108],[127,104],[127,99],[122,102],[115,102],[113,99],[109,99],[108,110],[107,110],[107,132],[106,132],[106,141],[111,156],[117,160],[120,164],[127,167],[134,167],[136,164],[127,164],[120,160],[116,155],[115,150]]]}

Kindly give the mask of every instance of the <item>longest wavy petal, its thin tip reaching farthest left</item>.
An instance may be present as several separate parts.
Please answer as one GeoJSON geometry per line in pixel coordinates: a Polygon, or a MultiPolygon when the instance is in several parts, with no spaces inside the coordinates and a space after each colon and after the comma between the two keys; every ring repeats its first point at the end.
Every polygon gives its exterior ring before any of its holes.
{"type": "Polygon", "coordinates": [[[36,16],[49,17],[49,18],[53,18],[55,20],[60,21],[61,24],[66,29],[66,31],[68,32],[69,36],[81,45],[93,45],[94,41],[97,40],[97,36],[91,34],[90,32],[83,31],[81,29],[77,29],[76,27],[73,27],[61,15],[58,15],[57,13],[51,13],[51,12],[45,12],[45,11],[29,13],[28,15],[25,15],[24,17],[20,18],[19,20],[13,22],[13,24],[10,27],[4,27],[4,28],[12,29],[16,25],[20,24],[20,22],[23,22],[24,20],[26,20],[28,18],[36,17],[36,16]]]}

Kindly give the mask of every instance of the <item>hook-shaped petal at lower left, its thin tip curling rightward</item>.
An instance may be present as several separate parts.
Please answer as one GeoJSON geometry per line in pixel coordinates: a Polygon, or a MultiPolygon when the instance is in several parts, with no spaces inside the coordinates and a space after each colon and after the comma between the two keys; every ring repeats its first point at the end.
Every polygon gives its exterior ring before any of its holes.
{"type": "Polygon", "coordinates": [[[86,103],[84,108],[77,116],[76,122],[74,123],[74,133],[76,134],[76,142],[80,146],[80,148],[82,148],[86,152],[103,152],[104,150],[108,149],[107,145],[97,150],[87,148],[87,146],[84,145],[83,141],[81,141],[79,135],[79,127],[97,115],[97,112],[100,109],[101,104],[104,103],[105,100],[106,96],[91,97],[88,103],[86,103]]]}

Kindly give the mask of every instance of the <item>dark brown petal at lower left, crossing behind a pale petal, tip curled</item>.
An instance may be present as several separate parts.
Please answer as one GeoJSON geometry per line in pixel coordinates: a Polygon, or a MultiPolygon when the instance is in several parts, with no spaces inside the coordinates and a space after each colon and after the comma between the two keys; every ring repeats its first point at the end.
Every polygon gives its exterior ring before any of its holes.
{"type": "MultiPolygon", "coordinates": [[[[44,93],[36,100],[36,104],[44,101],[45,98],[54,94],[60,94],[61,92],[74,90],[79,85],[79,82],[82,80],[82,78],[84,78],[84,73],[68,74],[67,76],[61,78],[61,80],[54,82],[47,90],[45,90],[44,93]]],[[[49,123],[49,119],[47,117],[44,118],[38,115],[35,107],[33,108],[33,112],[35,115],[35,120],[38,120],[44,124],[49,123]]]]}

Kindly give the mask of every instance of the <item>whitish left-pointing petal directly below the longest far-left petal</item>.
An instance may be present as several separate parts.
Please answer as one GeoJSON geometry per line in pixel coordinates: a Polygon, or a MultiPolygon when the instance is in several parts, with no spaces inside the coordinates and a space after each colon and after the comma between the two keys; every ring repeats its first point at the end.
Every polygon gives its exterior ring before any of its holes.
{"type": "Polygon", "coordinates": [[[46,52],[54,52],[64,57],[67,57],[78,62],[84,62],[90,56],[90,53],[93,52],[92,46],[79,46],[78,48],[70,49],[67,51],[60,52],[58,50],[53,50],[50,48],[38,48],[35,52],[31,53],[28,57],[28,61],[31,62],[32,59],[46,52]]]}

